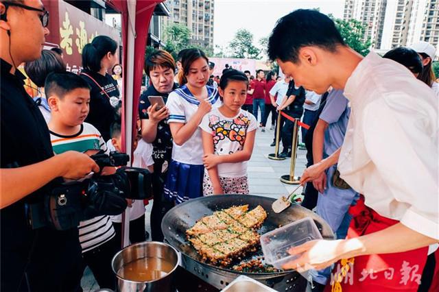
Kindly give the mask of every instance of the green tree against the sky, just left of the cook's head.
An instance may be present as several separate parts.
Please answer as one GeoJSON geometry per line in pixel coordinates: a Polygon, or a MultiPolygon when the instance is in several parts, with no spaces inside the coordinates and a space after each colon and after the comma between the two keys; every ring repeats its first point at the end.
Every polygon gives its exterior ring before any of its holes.
{"type": "Polygon", "coordinates": [[[241,28],[228,45],[233,58],[259,59],[261,50],[253,45],[253,34],[241,28]]]}

